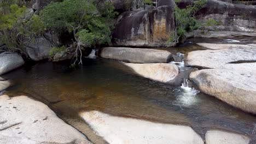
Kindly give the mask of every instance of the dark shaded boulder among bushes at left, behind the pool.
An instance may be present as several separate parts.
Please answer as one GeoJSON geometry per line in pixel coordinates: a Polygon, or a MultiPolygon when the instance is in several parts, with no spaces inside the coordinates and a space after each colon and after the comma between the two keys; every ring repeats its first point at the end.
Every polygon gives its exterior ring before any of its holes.
{"type": "Polygon", "coordinates": [[[51,46],[51,42],[44,37],[36,38],[26,47],[26,53],[33,61],[40,61],[49,57],[51,46]]]}

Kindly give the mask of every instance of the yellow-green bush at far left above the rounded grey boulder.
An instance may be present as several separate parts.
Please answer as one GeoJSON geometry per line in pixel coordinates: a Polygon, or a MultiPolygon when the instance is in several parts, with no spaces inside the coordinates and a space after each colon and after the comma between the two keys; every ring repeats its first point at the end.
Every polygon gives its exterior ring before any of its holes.
{"type": "Polygon", "coordinates": [[[5,51],[24,53],[24,47],[44,31],[44,23],[39,16],[28,14],[25,6],[9,6],[7,14],[0,16],[0,43],[7,46],[5,51]]]}

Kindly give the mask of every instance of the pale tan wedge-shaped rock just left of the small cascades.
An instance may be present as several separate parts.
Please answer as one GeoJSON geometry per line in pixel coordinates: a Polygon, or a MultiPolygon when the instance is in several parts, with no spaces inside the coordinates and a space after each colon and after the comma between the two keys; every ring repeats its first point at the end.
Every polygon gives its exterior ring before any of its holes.
{"type": "Polygon", "coordinates": [[[134,70],[135,73],[160,82],[172,81],[179,74],[179,68],[177,65],[170,63],[124,64],[134,70]]]}

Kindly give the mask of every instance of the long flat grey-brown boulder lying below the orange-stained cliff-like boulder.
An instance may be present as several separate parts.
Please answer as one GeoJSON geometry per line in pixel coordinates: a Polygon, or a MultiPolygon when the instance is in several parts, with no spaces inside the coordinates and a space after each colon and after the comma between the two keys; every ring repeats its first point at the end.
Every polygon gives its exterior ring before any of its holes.
{"type": "Polygon", "coordinates": [[[100,56],[130,63],[168,63],[172,59],[168,51],[128,47],[104,47],[100,56]]]}

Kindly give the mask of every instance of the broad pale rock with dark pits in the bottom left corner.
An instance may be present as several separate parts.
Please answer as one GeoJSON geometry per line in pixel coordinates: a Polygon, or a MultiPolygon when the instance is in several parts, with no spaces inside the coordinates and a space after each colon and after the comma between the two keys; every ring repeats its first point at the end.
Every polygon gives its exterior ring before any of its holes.
{"type": "Polygon", "coordinates": [[[0,105],[0,143],[90,143],[39,101],[2,95],[0,105]]]}

